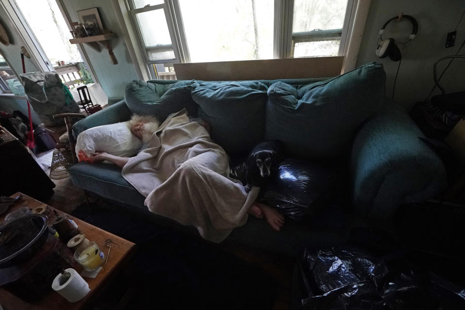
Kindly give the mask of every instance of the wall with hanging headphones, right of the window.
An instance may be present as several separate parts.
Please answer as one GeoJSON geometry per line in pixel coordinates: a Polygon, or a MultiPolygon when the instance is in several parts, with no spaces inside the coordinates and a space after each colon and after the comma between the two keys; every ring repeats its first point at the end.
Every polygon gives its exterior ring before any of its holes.
{"type": "MultiPolygon", "coordinates": [[[[357,66],[367,62],[383,63],[387,74],[386,91],[390,98],[398,62],[389,58],[379,59],[375,55],[376,43],[381,26],[391,17],[403,14],[414,16],[418,21],[418,34],[405,49],[401,48],[402,64],[396,83],[395,100],[406,108],[422,101],[434,86],[433,64],[438,58],[453,55],[465,40],[465,17],[457,28],[455,47],[446,48],[446,35],[453,31],[465,9],[464,0],[372,0],[363,34],[357,66]]],[[[391,22],[383,38],[393,37],[403,41],[411,33],[411,23],[391,22]]],[[[465,54],[465,47],[460,54],[465,54]]],[[[438,65],[442,72],[448,61],[438,65]]],[[[456,59],[441,79],[446,92],[465,91],[465,60],[456,59]]],[[[436,88],[434,94],[439,94],[436,88]]]]}

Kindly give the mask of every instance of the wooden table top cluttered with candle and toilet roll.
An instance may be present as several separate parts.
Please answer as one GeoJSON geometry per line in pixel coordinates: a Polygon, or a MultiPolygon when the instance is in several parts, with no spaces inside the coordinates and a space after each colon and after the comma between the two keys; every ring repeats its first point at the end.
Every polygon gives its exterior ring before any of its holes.
{"type": "MultiPolygon", "coordinates": [[[[39,202],[29,196],[26,196],[20,192],[10,196],[16,197],[22,195],[22,200],[19,200],[15,204],[11,205],[9,209],[0,215],[0,223],[4,222],[4,217],[11,211],[23,206],[24,201],[27,201],[27,206],[30,209],[34,209],[39,206],[45,206],[47,204],[39,202]]],[[[54,209],[48,206],[50,209],[54,209]]],[[[62,211],[57,210],[60,215],[66,214],[62,211]]],[[[95,227],[89,223],[86,223],[76,217],[72,217],[68,214],[66,216],[76,222],[81,233],[86,235],[86,238],[90,241],[94,241],[105,253],[105,260],[108,255],[108,247],[105,246],[105,240],[111,239],[111,251],[108,259],[107,267],[102,268],[95,279],[84,278],[89,283],[91,291],[80,301],[71,303],[68,302],[62,295],[57,292],[50,290],[44,298],[35,301],[33,304],[27,303],[15,295],[0,288],[0,305],[5,310],[29,310],[29,309],[47,309],[47,310],[73,310],[82,309],[83,307],[91,304],[102,292],[103,288],[109,283],[109,279],[114,276],[117,271],[120,271],[124,265],[128,262],[131,256],[136,250],[136,245],[130,241],[120,238],[112,233],[106,232],[98,227],[95,227]]],[[[103,263],[102,267],[105,265],[103,263]]],[[[79,271],[79,270],[78,270],[79,271]]]]}

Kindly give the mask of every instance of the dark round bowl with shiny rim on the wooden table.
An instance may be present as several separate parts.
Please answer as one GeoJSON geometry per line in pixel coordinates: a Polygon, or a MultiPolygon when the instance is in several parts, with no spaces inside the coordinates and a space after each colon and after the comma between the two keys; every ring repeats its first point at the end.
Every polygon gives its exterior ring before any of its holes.
{"type": "Polygon", "coordinates": [[[31,214],[0,227],[0,268],[28,261],[47,240],[48,218],[31,214]]]}

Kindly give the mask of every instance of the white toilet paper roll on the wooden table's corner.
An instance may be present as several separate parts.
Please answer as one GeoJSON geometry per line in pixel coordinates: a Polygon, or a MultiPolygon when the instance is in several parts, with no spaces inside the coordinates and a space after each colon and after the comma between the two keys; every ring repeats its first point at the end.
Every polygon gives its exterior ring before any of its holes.
{"type": "Polygon", "coordinates": [[[71,274],[71,277],[60,285],[60,280],[63,277],[62,274],[59,274],[55,277],[52,282],[52,289],[58,294],[62,295],[69,302],[76,302],[81,300],[87,293],[90,292],[89,284],[79,276],[78,272],[73,268],[68,268],[65,270],[71,274]]]}

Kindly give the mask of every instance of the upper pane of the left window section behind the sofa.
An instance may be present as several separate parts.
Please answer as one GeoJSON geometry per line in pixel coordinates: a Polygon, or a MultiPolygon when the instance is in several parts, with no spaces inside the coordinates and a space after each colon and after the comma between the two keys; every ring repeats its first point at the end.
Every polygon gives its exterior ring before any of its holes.
{"type": "Polygon", "coordinates": [[[174,59],[170,32],[163,9],[136,14],[150,60],[174,59]]]}

